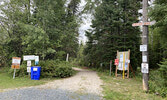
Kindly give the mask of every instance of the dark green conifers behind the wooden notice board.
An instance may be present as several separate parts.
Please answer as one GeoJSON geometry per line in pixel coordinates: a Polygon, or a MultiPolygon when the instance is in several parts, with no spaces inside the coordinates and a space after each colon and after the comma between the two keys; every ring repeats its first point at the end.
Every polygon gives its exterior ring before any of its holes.
{"type": "Polygon", "coordinates": [[[102,0],[96,7],[92,30],[86,32],[88,42],[84,50],[87,65],[98,67],[100,63],[109,66],[116,58],[116,52],[131,50],[131,65],[134,70],[140,61],[140,31],[132,27],[138,22],[138,0],[102,0]]]}

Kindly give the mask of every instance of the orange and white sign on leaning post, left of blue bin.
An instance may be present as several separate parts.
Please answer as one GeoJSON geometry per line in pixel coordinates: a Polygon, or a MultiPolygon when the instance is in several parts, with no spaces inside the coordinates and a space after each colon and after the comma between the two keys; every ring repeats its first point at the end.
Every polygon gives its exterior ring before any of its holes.
{"type": "Polygon", "coordinates": [[[12,58],[12,66],[11,66],[11,68],[14,69],[13,79],[15,79],[16,69],[20,68],[20,62],[21,62],[21,58],[20,57],[13,57],[12,58]]]}

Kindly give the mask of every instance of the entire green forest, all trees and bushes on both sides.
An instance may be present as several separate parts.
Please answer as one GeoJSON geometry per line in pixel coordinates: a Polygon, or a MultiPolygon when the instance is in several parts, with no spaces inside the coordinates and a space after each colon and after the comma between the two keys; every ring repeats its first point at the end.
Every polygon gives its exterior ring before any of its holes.
{"type": "MultiPolygon", "coordinates": [[[[141,21],[142,0],[85,0],[82,11],[79,10],[81,1],[1,2],[0,68],[10,68],[12,57],[38,55],[40,65],[45,66],[42,77],[68,77],[74,73],[72,64],[109,71],[109,62],[112,60],[114,64],[117,50],[130,49],[130,63],[136,76],[140,77],[142,30],[132,24],[141,21]],[[82,41],[79,40],[79,27],[83,14],[92,15],[92,25],[85,30],[86,43],[79,43],[82,41]],[[65,62],[67,54],[72,63],[65,62]]],[[[148,10],[149,20],[156,21],[149,26],[149,92],[166,97],[167,1],[154,0],[148,10]]],[[[27,75],[26,63],[22,64],[18,76],[27,75]]]]}

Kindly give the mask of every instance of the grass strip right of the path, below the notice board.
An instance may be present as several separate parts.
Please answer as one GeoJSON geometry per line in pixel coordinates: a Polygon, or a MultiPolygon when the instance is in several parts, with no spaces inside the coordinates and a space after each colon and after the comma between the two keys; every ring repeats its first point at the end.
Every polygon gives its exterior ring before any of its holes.
{"type": "Polygon", "coordinates": [[[109,76],[108,73],[99,72],[104,81],[103,94],[106,100],[166,100],[160,96],[145,93],[142,90],[142,80],[122,79],[122,77],[109,76]]]}

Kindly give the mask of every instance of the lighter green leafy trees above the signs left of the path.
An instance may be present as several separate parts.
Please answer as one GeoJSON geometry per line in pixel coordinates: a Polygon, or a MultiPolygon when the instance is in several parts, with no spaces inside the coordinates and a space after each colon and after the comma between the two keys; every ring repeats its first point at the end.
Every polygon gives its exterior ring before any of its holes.
{"type": "Polygon", "coordinates": [[[1,65],[12,57],[39,55],[40,59],[76,57],[80,0],[9,0],[1,6],[1,65]]]}

